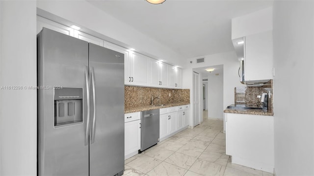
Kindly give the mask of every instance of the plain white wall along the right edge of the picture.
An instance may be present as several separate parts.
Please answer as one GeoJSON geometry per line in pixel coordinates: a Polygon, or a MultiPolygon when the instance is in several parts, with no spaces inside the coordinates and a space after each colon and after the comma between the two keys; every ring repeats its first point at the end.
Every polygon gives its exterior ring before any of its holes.
{"type": "Polygon", "coordinates": [[[274,1],[277,176],[314,175],[314,1],[274,1]]]}

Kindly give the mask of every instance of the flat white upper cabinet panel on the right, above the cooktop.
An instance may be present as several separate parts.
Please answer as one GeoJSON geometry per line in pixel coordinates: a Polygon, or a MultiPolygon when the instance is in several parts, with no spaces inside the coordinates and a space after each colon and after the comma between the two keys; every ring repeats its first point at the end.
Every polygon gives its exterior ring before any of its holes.
{"type": "Polygon", "coordinates": [[[245,81],[273,79],[272,31],[245,37],[245,81]]]}

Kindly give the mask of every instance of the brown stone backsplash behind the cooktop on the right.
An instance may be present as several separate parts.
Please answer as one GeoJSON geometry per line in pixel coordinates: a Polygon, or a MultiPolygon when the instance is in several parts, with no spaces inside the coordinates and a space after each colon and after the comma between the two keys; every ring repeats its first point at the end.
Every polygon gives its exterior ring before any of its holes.
{"type": "Polygon", "coordinates": [[[260,102],[258,95],[271,93],[268,99],[268,112],[273,112],[273,80],[270,80],[262,87],[238,87],[235,88],[235,104],[256,105],[260,102]]]}

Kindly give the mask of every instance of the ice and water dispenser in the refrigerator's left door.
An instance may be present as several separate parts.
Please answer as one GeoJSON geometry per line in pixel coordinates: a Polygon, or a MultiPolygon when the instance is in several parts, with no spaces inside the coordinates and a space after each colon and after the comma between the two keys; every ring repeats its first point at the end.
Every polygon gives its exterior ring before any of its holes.
{"type": "Polygon", "coordinates": [[[54,89],[54,127],[83,122],[83,89],[54,89]]]}

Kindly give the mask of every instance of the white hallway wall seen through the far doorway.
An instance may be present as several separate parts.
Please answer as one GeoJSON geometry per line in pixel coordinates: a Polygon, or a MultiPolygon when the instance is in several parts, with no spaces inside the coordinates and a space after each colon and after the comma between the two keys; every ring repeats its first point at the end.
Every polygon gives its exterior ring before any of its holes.
{"type": "Polygon", "coordinates": [[[208,118],[223,120],[223,75],[209,74],[208,76],[208,118]]]}

